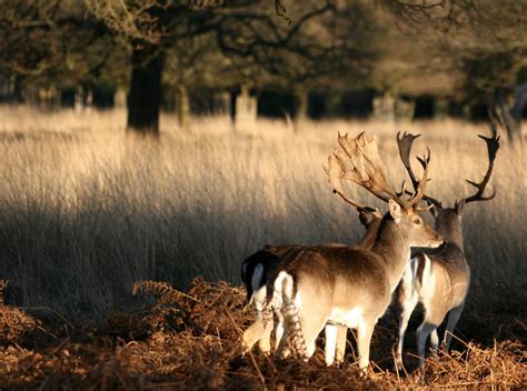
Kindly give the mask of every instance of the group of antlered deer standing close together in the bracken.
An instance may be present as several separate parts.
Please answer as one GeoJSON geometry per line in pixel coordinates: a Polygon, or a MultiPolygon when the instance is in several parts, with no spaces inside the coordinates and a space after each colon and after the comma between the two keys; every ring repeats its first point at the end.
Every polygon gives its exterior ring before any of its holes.
{"type": "Polygon", "coordinates": [[[425,319],[417,330],[420,365],[425,363],[428,337],[435,350],[437,328],[448,315],[443,342],[448,349],[454,328],[467,297],[470,271],[464,253],[461,213],[464,205],[484,197],[499,148],[499,137],[479,136],[486,141],[488,170],[480,183],[468,181],[477,192],[456,201],[454,208],[425,193],[428,181],[428,156],[418,158],[422,177],[417,179],[410,166],[410,150],[418,136],[397,136],[400,159],[411,180],[414,191],[395,191],[387,182],[376,139],[367,141],[364,133],[355,139],[338,137],[338,146],[328,158],[325,171],[334,192],[357,209],[366,234],[356,245],[280,245],[266,247],[242,262],[241,275],[249,304],[257,319],[243,333],[242,348],[249,351],[258,342],[262,352],[270,352],[270,334],[275,330],[276,354],[311,357],[316,339],[325,329],[326,364],[342,362],[347,329],[357,329],[359,368],[369,364],[374,328],[386,312],[397,287],[398,349],[396,363],[402,365],[402,342],[408,320],[420,302],[425,319]],[[342,181],[359,184],[388,203],[382,215],[377,209],[346,196],[342,181]],[[419,207],[421,201],[427,207],[419,207]],[[432,230],[418,211],[430,210],[432,230]],[[434,248],[410,257],[411,248],[434,248]],[[286,341],[289,343],[286,348],[286,341]]]}

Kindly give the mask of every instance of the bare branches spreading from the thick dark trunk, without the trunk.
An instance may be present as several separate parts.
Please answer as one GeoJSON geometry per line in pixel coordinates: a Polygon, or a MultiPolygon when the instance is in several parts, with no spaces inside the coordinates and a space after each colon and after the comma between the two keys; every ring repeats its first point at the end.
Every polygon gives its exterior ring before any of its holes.
{"type": "Polygon", "coordinates": [[[331,0],[287,9],[281,0],[84,1],[90,12],[135,46],[148,42],[165,50],[209,36],[222,54],[289,82],[336,73],[337,68],[351,68],[347,59],[362,59],[355,47],[348,48],[348,39],[335,39],[339,29],[326,26],[340,18],[331,0]]]}

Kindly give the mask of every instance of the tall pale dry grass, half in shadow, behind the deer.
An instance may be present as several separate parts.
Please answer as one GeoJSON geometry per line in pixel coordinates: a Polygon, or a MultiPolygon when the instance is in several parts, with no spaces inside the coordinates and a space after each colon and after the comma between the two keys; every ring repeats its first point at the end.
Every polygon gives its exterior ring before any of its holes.
{"type": "MultiPolygon", "coordinates": [[[[392,183],[405,173],[396,131],[424,133],[416,152],[432,151],[429,192],[449,204],[471,191],[464,179],[479,180],[487,167],[476,138],[487,129],[455,121],[310,122],[294,132],[272,121],[232,131],[216,118],[182,131],[166,116],[157,142],[126,137],[123,126],[118,110],[0,108],[7,301],[100,317],[132,307],[137,280],[181,287],[202,274],[237,283],[240,261],[262,244],[358,240],[355,211],[331,194],[321,170],[337,130],[378,134],[392,183]]],[[[466,208],[471,308],[527,304],[525,152],[504,142],[491,180],[496,199],[466,208]]],[[[357,187],[349,191],[385,208],[357,187]]]]}

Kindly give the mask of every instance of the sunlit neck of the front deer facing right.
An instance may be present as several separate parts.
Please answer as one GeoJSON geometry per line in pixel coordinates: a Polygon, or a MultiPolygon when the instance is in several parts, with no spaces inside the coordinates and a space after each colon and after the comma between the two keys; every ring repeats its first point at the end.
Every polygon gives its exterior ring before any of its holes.
{"type": "Polygon", "coordinates": [[[390,291],[397,288],[410,259],[410,245],[400,227],[389,215],[385,215],[371,247],[386,265],[390,291]]]}

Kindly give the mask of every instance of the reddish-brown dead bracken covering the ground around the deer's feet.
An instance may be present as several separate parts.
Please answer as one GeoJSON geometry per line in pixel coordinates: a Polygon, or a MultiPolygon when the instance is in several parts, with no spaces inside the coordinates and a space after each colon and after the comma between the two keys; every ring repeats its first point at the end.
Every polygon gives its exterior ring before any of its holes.
{"type": "MultiPolygon", "coordinates": [[[[253,319],[245,310],[242,289],[200,278],[193,280],[188,292],[156,281],[135,287],[136,292],[158,295],[159,302],[142,311],[112,312],[95,332],[83,332],[87,328],[79,328],[78,335],[57,331],[51,342],[6,338],[19,335],[17,330],[22,323],[0,315],[0,332],[7,341],[0,348],[0,388],[262,389],[265,384],[269,389],[507,389],[527,382],[525,345],[508,339],[486,348],[463,343],[460,350],[428,359],[421,371],[407,369],[407,374],[396,374],[389,369],[390,341],[379,335],[387,332],[381,325],[372,340],[372,359],[378,367],[367,377],[360,375],[352,353],[341,368],[325,367],[321,350],[308,363],[278,361],[257,352],[242,357],[240,334],[253,319]]],[[[7,308],[2,305],[2,313],[7,308]]],[[[32,319],[19,309],[10,309],[10,313],[32,319]]],[[[23,323],[29,337],[34,322],[32,327],[23,323]]]]}

